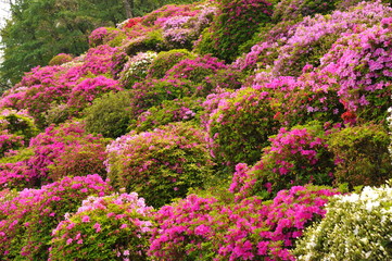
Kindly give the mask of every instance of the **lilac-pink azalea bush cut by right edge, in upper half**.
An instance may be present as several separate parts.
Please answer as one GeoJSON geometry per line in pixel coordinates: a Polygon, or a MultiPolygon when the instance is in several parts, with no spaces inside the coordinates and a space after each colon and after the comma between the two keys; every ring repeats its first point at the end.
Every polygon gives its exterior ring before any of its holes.
{"type": "Polygon", "coordinates": [[[320,73],[330,77],[346,110],[368,121],[384,121],[389,108],[391,29],[391,18],[382,18],[341,37],[321,59],[320,73]]]}

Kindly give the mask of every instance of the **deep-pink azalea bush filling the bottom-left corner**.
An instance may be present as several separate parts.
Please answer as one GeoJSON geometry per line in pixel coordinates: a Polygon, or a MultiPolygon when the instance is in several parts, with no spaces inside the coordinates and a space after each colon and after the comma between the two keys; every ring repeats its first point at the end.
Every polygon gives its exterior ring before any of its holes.
{"type": "Polygon", "coordinates": [[[65,177],[24,189],[0,202],[1,260],[47,260],[51,233],[67,212],[75,212],[88,196],[113,190],[99,175],[65,177]]]}

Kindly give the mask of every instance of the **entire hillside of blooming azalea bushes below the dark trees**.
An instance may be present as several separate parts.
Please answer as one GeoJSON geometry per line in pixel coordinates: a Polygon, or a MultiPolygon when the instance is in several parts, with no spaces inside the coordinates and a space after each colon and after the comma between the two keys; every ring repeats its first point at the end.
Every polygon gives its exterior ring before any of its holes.
{"type": "Polygon", "coordinates": [[[392,9],[358,2],[170,4],[33,69],[0,98],[0,259],[389,259],[389,187],[325,209],[392,177],[392,9]]]}

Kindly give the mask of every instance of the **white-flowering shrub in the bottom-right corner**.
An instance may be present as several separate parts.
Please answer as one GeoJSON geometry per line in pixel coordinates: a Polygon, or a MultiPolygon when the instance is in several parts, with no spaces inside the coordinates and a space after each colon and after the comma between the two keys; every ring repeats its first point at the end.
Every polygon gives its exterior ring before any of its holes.
{"type": "Polygon", "coordinates": [[[298,260],[392,260],[391,183],[334,196],[325,219],[299,240],[298,260]]]}

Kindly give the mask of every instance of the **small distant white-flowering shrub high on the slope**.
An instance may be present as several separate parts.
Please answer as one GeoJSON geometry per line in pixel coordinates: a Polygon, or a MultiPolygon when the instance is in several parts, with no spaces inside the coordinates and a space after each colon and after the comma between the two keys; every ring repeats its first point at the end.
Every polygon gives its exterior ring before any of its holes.
{"type": "Polygon", "coordinates": [[[119,73],[119,80],[126,88],[130,88],[135,83],[144,79],[149,67],[156,55],[156,52],[148,51],[139,52],[131,57],[119,73]]]}

